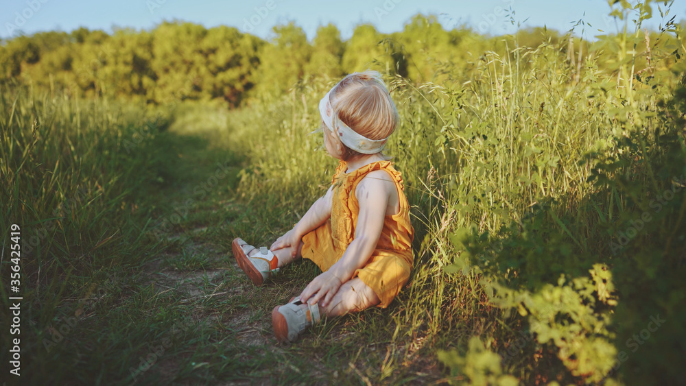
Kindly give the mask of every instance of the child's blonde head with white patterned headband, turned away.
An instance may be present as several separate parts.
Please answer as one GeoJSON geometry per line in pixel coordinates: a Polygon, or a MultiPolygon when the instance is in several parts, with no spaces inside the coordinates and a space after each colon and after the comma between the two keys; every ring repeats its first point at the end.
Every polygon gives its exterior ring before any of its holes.
{"type": "Polygon", "coordinates": [[[344,77],[322,99],[320,112],[324,125],[342,145],[343,160],[380,153],[400,120],[377,71],[344,77]]]}

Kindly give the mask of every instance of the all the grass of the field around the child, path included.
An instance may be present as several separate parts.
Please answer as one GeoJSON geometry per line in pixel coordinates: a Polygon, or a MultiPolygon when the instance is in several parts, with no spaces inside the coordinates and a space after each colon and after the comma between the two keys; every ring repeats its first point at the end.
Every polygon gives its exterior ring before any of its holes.
{"type": "MultiPolygon", "coordinates": [[[[630,73],[626,60],[619,66],[630,73]]],[[[545,43],[485,52],[469,69],[444,84],[388,79],[403,121],[390,154],[416,228],[407,287],[386,310],[327,320],[287,346],[275,344],[270,312],[299,293],[316,266],[295,263],[256,288],[228,251],[234,237],[269,245],[326,191],[336,162],[317,150],[320,134],[307,132],[318,125],[316,104],[331,80],[234,111],[191,102],[151,111],[3,86],[0,228],[23,229],[21,381],[475,382],[489,350],[512,349],[540,322],[533,302],[493,296],[503,276],[507,284],[525,278],[513,288],[536,298],[560,272],[575,285],[590,280],[597,261],[582,257],[609,256],[598,224],[628,210],[632,195],[593,184],[594,160],[622,159],[635,131],[671,133],[653,113],[678,77],[627,86],[628,77],[598,70],[590,56],[572,76],[577,67],[545,43]],[[631,123],[637,117],[640,125],[631,123]],[[476,239],[465,236],[470,229],[476,239]],[[494,249],[456,267],[484,240],[494,249]],[[521,250],[538,260],[514,264],[521,250]],[[475,351],[471,337],[486,351],[475,351]],[[454,355],[439,362],[440,350],[454,355]]],[[[655,143],[632,156],[653,160],[646,154],[660,154],[655,143]]],[[[646,183],[652,169],[641,168],[631,170],[646,183]]],[[[0,274],[8,272],[5,260],[0,274]]],[[[600,303],[593,317],[613,314],[600,303]]],[[[8,335],[1,339],[9,345],[8,335]]],[[[508,362],[495,357],[493,373],[502,366],[526,384],[591,382],[560,344],[536,341],[508,362]]]]}

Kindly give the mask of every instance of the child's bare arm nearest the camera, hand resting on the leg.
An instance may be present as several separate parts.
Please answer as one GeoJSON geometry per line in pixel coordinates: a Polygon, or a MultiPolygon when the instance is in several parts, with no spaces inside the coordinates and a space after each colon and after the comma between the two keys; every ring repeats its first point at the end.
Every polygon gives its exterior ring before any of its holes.
{"type": "Polygon", "coordinates": [[[337,263],[305,287],[300,300],[307,302],[309,299],[309,304],[323,300],[322,306],[327,306],[338,288],[352,278],[355,270],[365,265],[377,248],[391,194],[397,194],[397,188],[386,171],[372,171],[357,184],[355,196],[359,214],[355,239],[337,263]]]}

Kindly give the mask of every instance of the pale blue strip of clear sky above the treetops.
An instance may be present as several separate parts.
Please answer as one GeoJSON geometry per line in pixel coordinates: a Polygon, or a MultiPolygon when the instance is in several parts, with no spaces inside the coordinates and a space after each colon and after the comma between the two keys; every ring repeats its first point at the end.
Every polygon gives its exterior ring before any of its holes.
{"type": "MultiPolygon", "coordinates": [[[[0,4],[0,38],[79,27],[108,33],[117,27],[152,29],[176,19],[206,27],[229,25],[261,38],[272,38],[274,25],[295,21],[312,39],[318,26],[333,23],[347,39],[361,23],[372,23],[384,33],[400,31],[418,13],[435,14],[446,29],[464,24],[491,35],[516,32],[517,25],[545,25],[566,32],[583,20],[587,25],[578,25],[574,33],[593,40],[617,32],[618,27],[608,16],[611,8],[606,0],[0,0],[0,4]]],[[[663,19],[657,5],[663,9],[665,5],[664,1],[652,4],[653,18],[644,25],[658,29],[663,19]]],[[[676,21],[686,19],[686,0],[674,0],[667,19],[673,15],[676,21]]]]}

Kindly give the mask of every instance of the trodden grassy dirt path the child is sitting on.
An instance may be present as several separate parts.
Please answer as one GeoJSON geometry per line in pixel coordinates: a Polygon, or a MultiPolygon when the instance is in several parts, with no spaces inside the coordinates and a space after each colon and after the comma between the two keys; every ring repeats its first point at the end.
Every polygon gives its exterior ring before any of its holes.
{"type": "Polygon", "coordinates": [[[266,245],[283,232],[279,221],[287,217],[282,209],[236,199],[236,156],[180,136],[172,149],[178,159],[167,165],[170,182],[161,190],[149,232],[163,252],[144,265],[142,284],[152,287],[154,297],[170,299],[166,307],[174,310],[174,320],[162,335],[171,347],[145,372],[145,381],[370,384],[440,378],[434,355],[428,361],[424,355],[421,332],[409,341],[394,339],[399,309],[325,321],[296,344],[277,344],[272,309],[297,295],[316,267],[296,263],[263,287],[252,285],[230,254],[231,240],[240,236],[266,245]],[[226,176],[217,176],[218,170],[226,176]],[[265,216],[273,219],[255,221],[265,216]]]}

